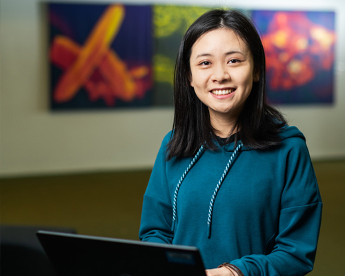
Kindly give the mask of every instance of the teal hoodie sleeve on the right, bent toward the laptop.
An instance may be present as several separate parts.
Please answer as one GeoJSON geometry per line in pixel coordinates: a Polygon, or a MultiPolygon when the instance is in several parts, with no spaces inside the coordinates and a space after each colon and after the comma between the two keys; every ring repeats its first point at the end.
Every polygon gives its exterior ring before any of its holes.
{"type": "MultiPolygon", "coordinates": [[[[322,200],[305,141],[293,138],[286,155],[279,226],[267,255],[235,259],[245,276],[299,276],[313,270],[322,216],[322,200]]],[[[268,241],[271,242],[271,241],[268,241]]]]}

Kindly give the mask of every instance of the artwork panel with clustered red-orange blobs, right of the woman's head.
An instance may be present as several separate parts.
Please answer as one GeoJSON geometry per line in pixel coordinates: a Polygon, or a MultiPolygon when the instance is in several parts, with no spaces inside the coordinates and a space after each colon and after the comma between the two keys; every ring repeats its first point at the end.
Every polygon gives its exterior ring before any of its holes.
{"type": "Polygon", "coordinates": [[[335,13],[253,10],[270,103],[333,103],[335,13]]]}

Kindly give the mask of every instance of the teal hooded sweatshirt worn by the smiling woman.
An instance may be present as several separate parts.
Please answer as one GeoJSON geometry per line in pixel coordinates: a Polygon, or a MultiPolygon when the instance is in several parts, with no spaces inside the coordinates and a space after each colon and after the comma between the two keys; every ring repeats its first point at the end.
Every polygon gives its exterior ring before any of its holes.
{"type": "Polygon", "coordinates": [[[283,128],[270,150],[234,143],[166,161],[164,138],[144,195],[139,238],[197,246],[206,268],[245,276],[313,269],[322,200],[302,132],[283,128]],[[241,147],[242,146],[242,147],[241,147]]]}

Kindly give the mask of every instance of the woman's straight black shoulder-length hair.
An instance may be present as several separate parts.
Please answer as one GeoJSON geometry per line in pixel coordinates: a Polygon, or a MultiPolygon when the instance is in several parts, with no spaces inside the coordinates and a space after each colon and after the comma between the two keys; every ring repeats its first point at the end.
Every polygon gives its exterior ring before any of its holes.
{"type": "Polygon", "coordinates": [[[233,128],[235,142],[241,140],[245,146],[254,149],[270,148],[280,142],[278,132],[286,120],[277,109],[266,103],[266,61],[259,34],[242,12],[215,9],[201,15],[188,28],[179,47],[174,81],[175,117],[167,159],[193,156],[202,144],[211,150],[217,149],[208,107],[190,86],[190,55],[195,41],[202,34],[219,28],[229,28],[243,39],[253,55],[254,70],[260,75],[259,81],[253,83],[233,128]]]}

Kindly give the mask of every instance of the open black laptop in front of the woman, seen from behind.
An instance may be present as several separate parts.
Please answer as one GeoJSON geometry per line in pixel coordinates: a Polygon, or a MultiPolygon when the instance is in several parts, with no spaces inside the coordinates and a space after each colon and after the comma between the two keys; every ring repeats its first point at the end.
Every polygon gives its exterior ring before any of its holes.
{"type": "Polygon", "coordinates": [[[37,237],[59,276],[206,276],[193,246],[43,230],[37,237]]]}

